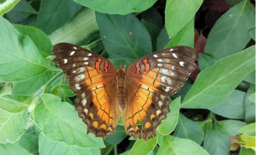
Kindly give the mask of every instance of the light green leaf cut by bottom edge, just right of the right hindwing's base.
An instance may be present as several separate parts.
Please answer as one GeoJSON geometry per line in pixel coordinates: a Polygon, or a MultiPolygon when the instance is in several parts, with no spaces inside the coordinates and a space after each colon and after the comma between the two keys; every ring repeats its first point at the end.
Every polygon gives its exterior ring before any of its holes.
{"type": "Polygon", "coordinates": [[[163,136],[158,155],[209,155],[209,153],[190,139],[166,135],[163,136]]]}

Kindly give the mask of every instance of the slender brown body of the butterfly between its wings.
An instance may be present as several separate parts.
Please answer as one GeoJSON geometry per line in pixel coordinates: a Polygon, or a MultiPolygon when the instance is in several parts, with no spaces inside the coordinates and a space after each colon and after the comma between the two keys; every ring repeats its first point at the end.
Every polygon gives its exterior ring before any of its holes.
{"type": "Polygon", "coordinates": [[[119,103],[120,109],[123,111],[125,109],[126,103],[126,78],[125,66],[119,66],[117,68],[116,74],[116,86],[117,86],[117,102],[119,103]]]}

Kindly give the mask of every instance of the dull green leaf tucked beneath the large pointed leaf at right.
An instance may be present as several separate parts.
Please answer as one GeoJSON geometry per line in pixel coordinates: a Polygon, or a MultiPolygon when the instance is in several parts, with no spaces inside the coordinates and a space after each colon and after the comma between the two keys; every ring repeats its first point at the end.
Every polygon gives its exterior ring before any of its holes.
{"type": "Polygon", "coordinates": [[[209,110],[215,114],[221,115],[223,117],[231,119],[244,119],[245,118],[245,108],[244,108],[244,98],[246,93],[234,90],[230,96],[222,102],[209,110]]]}

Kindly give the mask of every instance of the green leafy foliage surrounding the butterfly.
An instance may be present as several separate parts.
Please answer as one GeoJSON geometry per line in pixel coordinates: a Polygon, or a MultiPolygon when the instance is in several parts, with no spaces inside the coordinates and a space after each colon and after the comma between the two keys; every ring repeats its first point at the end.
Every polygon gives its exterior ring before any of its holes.
{"type": "Polygon", "coordinates": [[[255,155],[255,0],[0,0],[3,155],[255,155]],[[171,96],[148,141],[120,118],[106,139],[86,135],[52,45],[68,42],[116,66],[171,46],[197,68],[171,96]],[[103,36],[106,36],[117,61],[103,36]]]}

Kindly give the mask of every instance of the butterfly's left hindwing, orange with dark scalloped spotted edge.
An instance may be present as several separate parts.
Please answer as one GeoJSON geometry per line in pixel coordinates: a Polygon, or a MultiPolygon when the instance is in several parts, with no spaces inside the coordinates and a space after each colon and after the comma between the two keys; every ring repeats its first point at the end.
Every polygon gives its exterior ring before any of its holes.
{"type": "Polygon", "coordinates": [[[106,138],[114,134],[120,116],[114,82],[96,86],[79,94],[75,100],[79,117],[87,125],[87,134],[106,138]]]}

